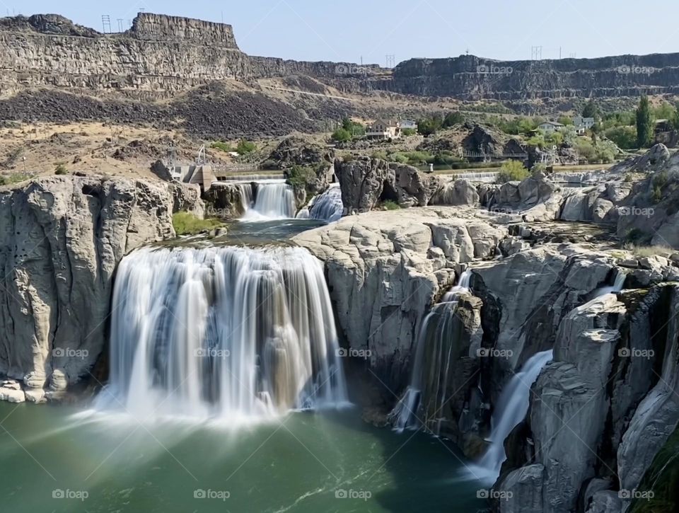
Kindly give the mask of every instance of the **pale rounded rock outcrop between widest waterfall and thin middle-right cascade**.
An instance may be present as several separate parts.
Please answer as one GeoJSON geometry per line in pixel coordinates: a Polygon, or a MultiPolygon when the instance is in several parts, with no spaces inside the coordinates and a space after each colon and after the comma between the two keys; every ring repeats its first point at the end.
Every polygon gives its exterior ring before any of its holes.
{"type": "Polygon", "coordinates": [[[422,313],[460,263],[492,258],[505,235],[473,209],[428,207],[344,217],[293,240],[325,261],[344,343],[370,350],[371,369],[400,390],[422,313]]]}

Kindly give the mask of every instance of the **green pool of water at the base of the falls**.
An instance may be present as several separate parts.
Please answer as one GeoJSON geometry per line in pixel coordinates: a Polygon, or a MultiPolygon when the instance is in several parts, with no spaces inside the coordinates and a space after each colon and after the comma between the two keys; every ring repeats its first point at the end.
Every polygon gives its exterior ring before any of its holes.
{"type": "MultiPolygon", "coordinates": [[[[0,403],[0,511],[460,512],[487,507],[439,439],[357,409],[266,424],[140,425],[73,407],[0,403]],[[63,498],[62,498],[63,497],[63,498]]],[[[458,459],[459,458],[459,459],[458,459]]]]}

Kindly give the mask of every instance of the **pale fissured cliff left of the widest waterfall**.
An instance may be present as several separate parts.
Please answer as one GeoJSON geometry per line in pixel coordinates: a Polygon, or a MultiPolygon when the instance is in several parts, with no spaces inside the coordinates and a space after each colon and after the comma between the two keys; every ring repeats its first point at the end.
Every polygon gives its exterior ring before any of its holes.
{"type": "Polygon", "coordinates": [[[173,237],[175,207],[202,214],[197,191],[170,183],[64,176],[0,192],[0,373],[33,399],[86,375],[117,263],[173,237]]]}

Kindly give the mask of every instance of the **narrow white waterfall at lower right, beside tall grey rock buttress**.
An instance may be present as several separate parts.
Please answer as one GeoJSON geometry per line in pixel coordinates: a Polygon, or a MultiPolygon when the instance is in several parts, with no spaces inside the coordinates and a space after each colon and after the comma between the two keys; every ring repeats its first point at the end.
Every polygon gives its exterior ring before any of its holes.
{"type": "Polygon", "coordinates": [[[530,387],[553,357],[552,350],[533,355],[502,390],[491,421],[490,446],[477,464],[468,466],[474,478],[488,483],[497,480],[502,463],[507,459],[504,439],[526,417],[530,404],[530,387]]]}

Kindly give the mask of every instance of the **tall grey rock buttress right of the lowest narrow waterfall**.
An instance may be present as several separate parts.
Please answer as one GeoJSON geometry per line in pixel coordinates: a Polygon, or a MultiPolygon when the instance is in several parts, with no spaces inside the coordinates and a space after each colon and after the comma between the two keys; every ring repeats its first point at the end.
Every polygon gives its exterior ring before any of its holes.
{"type": "Polygon", "coordinates": [[[600,296],[564,317],[554,361],[531,393],[533,454],[503,469],[496,486],[515,499],[500,511],[542,497],[545,512],[620,513],[643,491],[679,422],[678,305],[679,287],[661,284],[600,296]],[[528,471],[533,480],[516,478],[528,471]]]}

